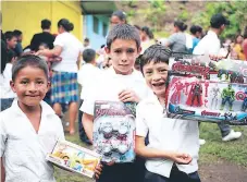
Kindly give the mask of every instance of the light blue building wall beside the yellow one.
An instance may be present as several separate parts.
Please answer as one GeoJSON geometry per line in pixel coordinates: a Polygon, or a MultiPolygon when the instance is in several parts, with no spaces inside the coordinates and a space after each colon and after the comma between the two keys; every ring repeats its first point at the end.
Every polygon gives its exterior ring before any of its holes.
{"type": "Polygon", "coordinates": [[[96,15],[98,19],[98,31],[94,31],[94,15],[86,15],[86,34],[84,38],[87,37],[90,39],[90,46],[95,50],[98,50],[101,45],[106,45],[106,35],[103,35],[103,24],[107,25],[107,33],[109,31],[109,17],[104,15],[96,15]]]}

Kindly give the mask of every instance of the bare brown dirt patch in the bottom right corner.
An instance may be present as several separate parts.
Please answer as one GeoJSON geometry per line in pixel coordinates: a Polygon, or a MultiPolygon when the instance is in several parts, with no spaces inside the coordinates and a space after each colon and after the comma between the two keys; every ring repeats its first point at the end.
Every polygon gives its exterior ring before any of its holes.
{"type": "Polygon", "coordinates": [[[224,160],[199,166],[201,182],[247,182],[247,167],[224,160]]]}

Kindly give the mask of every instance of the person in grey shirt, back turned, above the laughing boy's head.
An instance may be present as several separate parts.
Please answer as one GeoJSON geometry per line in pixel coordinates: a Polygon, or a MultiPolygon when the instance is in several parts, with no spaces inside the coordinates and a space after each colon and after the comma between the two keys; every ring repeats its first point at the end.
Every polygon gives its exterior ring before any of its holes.
{"type": "Polygon", "coordinates": [[[169,47],[173,52],[187,53],[186,34],[187,25],[182,21],[174,22],[173,34],[169,37],[165,47],[169,47]]]}

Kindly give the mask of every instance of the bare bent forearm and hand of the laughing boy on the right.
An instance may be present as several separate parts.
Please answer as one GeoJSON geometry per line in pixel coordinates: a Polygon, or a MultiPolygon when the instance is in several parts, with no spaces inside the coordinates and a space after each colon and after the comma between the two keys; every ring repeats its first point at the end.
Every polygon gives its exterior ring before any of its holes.
{"type": "Polygon", "coordinates": [[[137,155],[145,158],[166,158],[180,165],[188,165],[192,157],[187,154],[166,151],[145,146],[145,137],[136,136],[135,151],[137,155]]]}

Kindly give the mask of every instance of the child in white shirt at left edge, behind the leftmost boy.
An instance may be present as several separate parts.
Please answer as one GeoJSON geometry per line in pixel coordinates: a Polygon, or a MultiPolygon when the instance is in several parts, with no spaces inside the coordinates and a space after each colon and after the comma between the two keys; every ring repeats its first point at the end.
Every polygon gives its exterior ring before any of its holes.
{"type": "MultiPolygon", "coordinates": [[[[0,88],[1,88],[1,111],[11,107],[12,101],[16,97],[10,87],[10,81],[12,80],[12,65],[15,62],[16,57],[13,50],[9,50],[7,53],[7,64],[3,72],[0,75],[0,88]]],[[[2,60],[3,61],[3,60],[2,60]]]]}

